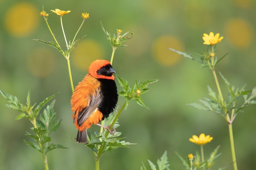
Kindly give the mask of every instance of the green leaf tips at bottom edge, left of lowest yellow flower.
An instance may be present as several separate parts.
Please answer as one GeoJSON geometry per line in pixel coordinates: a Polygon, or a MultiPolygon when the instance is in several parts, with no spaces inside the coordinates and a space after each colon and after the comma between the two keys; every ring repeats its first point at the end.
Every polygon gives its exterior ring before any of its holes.
{"type": "MultiPolygon", "coordinates": [[[[168,162],[168,157],[167,157],[167,151],[164,151],[162,157],[160,159],[157,159],[157,168],[156,165],[148,160],[149,166],[152,170],[169,170],[169,162],[168,162]]],[[[142,166],[140,168],[141,170],[147,170],[146,166],[142,162],[142,166]]]]}

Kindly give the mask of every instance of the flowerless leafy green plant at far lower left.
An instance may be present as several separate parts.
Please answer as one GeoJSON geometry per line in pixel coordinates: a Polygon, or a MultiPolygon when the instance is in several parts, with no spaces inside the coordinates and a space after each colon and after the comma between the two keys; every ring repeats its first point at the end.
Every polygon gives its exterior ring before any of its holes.
{"type": "Polygon", "coordinates": [[[11,94],[5,93],[2,90],[0,90],[0,93],[10,103],[9,105],[6,105],[8,108],[12,108],[20,112],[18,116],[15,118],[15,120],[27,118],[33,124],[34,127],[32,127],[31,130],[33,130],[35,135],[30,134],[28,132],[25,135],[31,137],[35,142],[33,143],[23,140],[23,143],[41,152],[43,155],[44,162],[47,163],[46,154],[50,150],[57,148],[66,148],[60,144],[53,143],[48,146],[48,142],[51,141],[51,138],[48,135],[51,132],[54,132],[60,126],[61,123],[61,120],[55,120],[56,113],[54,113],[53,109],[55,100],[52,101],[52,103],[43,110],[43,114],[40,114],[40,119],[36,119],[42,107],[45,106],[47,102],[54,98],[58,93],[44,99],[42,102],[39,103],[38,106],[35,107],[34,110],[33,108],[36,104],[31,105],[30,90],[27,94],[26,105],[20,104],[19,99],[11,94]]]}

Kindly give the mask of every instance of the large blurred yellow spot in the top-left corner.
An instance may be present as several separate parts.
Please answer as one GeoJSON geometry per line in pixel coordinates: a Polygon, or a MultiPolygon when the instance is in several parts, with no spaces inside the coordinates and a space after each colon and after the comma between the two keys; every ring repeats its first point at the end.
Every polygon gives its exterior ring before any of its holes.
{"type": "Polygon", "coordinates": [[[31,3],[16,3],[6,12],[5,27],[13,36],[27,36],[38,26],[39,19],[38,9],[31,3]]]}

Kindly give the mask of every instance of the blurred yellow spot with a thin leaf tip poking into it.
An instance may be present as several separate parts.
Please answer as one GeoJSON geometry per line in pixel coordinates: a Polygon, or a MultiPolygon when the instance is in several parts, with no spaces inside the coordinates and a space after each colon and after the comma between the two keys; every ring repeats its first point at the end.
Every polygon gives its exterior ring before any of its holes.
{"type": "Polygon", "coordinates": [[[153,56],[157,62],[166,66],[174,65],[182,58],[168,48],[183,51],[184,45],[181,40],[171,35],[161,36],[154,42],[153,56]]]}

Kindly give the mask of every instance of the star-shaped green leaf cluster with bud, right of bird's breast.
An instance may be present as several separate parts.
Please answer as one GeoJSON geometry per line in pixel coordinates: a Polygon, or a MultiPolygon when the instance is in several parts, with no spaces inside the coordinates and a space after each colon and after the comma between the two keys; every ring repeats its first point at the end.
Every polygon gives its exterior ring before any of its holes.
{"type": "Polygon", "coordinates": [[[150,90],[150,88],[148,88],[149,84],[157,82],[158,79],[145,80],[144,82],[140,82],[140,81],[135,80],[135,85],[130,87],[128,85],[127,80],[119,77],[118,75],[116,75],[116,77],[117,77],[117,80],[118,80],[120,86],[123,87],[123,91],[119,92],[119,95],[126,98],[125,109],[128,107],[129,102],[132,99],[134,99],[137,102],[138,105],[140,105],[142,107],[146,107],[147,109],[149,109],[149,107],[146,105],[144,100],[141,98],[141,94],[144,94],[144,93],[148,92],[150,90]]]}

